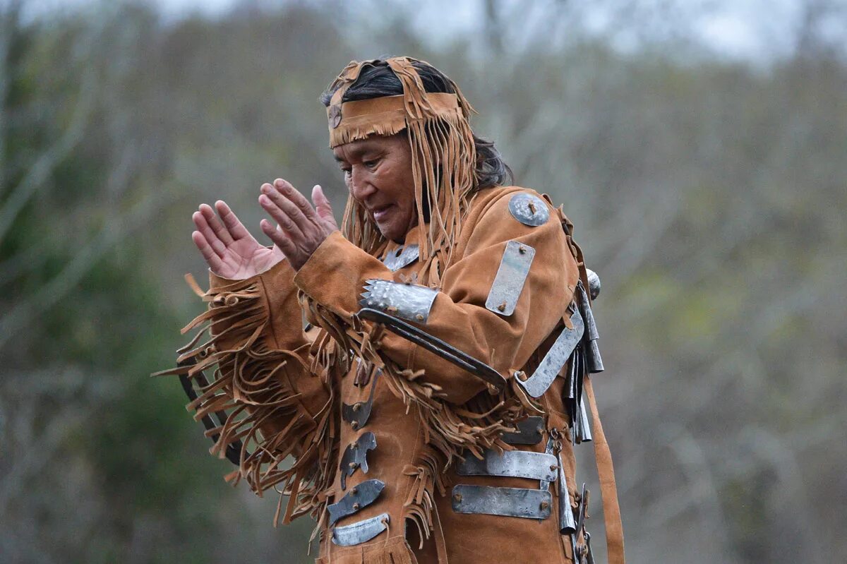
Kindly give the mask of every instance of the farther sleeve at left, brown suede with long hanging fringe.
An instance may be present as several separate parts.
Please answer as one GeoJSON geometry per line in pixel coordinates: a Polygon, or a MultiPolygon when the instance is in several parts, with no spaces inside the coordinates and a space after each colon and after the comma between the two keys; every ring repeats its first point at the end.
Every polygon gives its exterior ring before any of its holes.
{"type": "Polygon", "coordinates": [[[210,274],[209,290],[196,288],[208,311],[183,329],[199,330],[179,357],[190,377],[213,371],[187,406],[195,419],[229,413],[207,432],[219,437],[211,452],[223,457],[241,440],[239,469],[227,479],[243,478],[258,495],[271,487],[291,495],[286,522],[321,503],[333,456],[331,385],[312,362],[293,276],[287,261],[250,279],[210,274]]]}

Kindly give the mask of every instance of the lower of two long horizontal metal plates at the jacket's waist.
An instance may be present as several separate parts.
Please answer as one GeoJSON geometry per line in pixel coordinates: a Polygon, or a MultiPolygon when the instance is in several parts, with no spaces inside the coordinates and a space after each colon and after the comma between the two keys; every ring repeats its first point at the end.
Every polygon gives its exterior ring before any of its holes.
{"type": "Polygon", "coordinates": [[[457,513],[546,519],[550,517],[553,495],[541,489],[459,484],[453,488],[451,503],[457,513]]]}

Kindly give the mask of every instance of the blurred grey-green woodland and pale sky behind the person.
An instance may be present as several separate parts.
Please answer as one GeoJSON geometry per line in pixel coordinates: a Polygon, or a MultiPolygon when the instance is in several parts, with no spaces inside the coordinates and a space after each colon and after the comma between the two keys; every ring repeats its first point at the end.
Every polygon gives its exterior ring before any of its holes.
{"type": "Polygon", "coordinates": [[[628,560],[847,561],[835,0],[0,0],[0,561],[311,561],[149,373],[202,311],[191,213],[259,234],[284,176],[340,215],[318,94],[385,54],[457,80],[601,275],[628,560]]]}

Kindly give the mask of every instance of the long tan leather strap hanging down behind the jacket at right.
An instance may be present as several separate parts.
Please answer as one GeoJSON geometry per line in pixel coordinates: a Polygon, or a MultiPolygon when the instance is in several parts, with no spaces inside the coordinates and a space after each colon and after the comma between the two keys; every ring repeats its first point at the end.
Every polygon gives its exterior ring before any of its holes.
{"type": "Polygon", "coordinates": [[[623,557],[623,522],[621,508],[617,504],[617,484],[615,483],[615,468],[612,466],[612,452],[603,434],[600,423],[600,413],[594,399],[594,388],[591,379],[585,374],[584,393],[588,395],[591,406],[591,417],[594,429],[594,454],[597,461],[597,475],[600,477],[600,493],[603,497],[603,520],[606,524],[606,550],[609,564],[624,564],[623,557]]]}

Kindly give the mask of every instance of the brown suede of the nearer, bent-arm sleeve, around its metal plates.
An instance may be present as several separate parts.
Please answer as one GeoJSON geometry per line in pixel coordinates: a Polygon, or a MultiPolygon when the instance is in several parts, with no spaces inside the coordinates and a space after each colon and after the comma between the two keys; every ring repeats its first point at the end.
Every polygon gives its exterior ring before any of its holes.
{"type": "MultiPolygon", "coordinates": [[[[431,301],[425,323],[417,320],[430,335],[507,378],[523,368],[567,317],[579,275],[562,224],[556,219],[558,211],[545,202],[549,211],[545,223],[523,224],[509,211],[511,197],[520,193],[499,197],[481,213],[471,226],[462,257],[442,276],[441,290],[431,301]],[[486,301],[510,241],[531,247],[534,257],[514,311],[506,315],[486,307],[486,301]]],[[[360,295],[366,285],[373,287],[368,280],[374,279],[392,280],[392,273],[379,260],[334,234],[303,265],[295,282],[324,307],[344,316],[359,309],[360,295]]],[[[464,403],[486,388],[473,374],[399,336],[385,335],[380,348],[403,367],[423,369],[422,378],[438,385],[447,401],[464,403]]]]}

